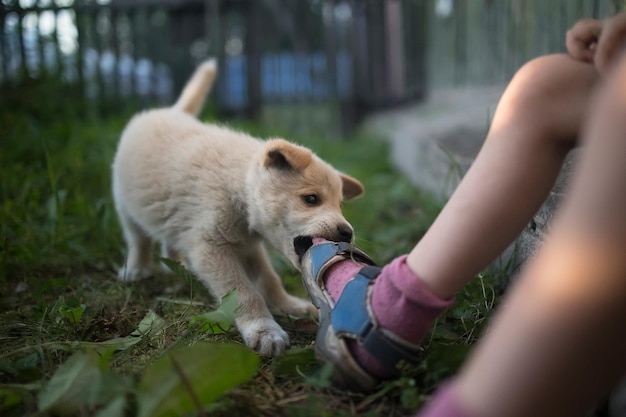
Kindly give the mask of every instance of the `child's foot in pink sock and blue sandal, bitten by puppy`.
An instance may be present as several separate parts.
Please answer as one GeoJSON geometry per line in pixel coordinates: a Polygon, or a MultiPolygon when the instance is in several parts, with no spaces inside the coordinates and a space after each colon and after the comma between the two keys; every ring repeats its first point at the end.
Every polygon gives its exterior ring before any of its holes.
{"type": "Polygon", "coordinates": [[[356,390],[414,369],[418,343],[453,301],[434,296],[406,256],[373,265],[358,248],[321,239],[302,258],[305,287],[320,310],[318,357],[333,365],[337,383],[356,390]]]}

